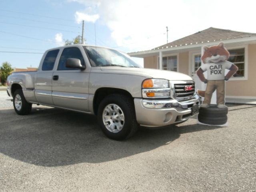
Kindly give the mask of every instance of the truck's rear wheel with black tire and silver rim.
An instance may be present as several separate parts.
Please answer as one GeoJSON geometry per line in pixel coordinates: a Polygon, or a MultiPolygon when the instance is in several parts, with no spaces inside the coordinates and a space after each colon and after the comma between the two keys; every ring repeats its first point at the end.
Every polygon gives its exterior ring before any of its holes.
{"type": "Polygon", "coordinates": [[[21,89],[14,92],[13,95],[14,110],[18,115],[30,114],[32,104],[27,102],[21,89]]]}

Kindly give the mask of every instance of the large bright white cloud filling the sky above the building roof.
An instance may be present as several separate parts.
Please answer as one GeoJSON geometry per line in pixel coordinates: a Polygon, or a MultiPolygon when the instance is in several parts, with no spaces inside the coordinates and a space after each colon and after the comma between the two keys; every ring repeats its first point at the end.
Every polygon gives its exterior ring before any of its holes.
{"type": "Polygon", "coordinates": [[[203,0],[70,1],[83,4],[88,17],[95,16],[92,22],[100,17],[100,24],[108,26],[116,44],[132,51],[166,44],[166,26],[168,42],[209,27],[256,32],[256,26],[246,22],[254,18],[249,0],[243,4],[238,0],[216,0],[210,5],[203,0]]]}

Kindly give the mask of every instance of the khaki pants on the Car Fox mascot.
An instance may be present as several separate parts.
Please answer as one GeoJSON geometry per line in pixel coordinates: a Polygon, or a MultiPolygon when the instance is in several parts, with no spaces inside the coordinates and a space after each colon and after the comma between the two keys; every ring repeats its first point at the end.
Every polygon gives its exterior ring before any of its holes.
{"type": "Polygon", "coordinates": [[[208,80],[204,93],[205,104],[210,105],[212,93],[217,90],[217,104],[225,103],[225,80],[208,80]]]}

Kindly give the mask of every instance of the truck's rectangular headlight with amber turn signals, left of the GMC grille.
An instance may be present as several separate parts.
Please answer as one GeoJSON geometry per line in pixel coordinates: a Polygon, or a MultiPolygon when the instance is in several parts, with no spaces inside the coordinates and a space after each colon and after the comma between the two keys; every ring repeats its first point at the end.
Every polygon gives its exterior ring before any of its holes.
{"type": "Polygon", "coordinates": [[[146,79],[142,82],[143,98],[169,98],[170,86],[166,79],[146,79]]]}

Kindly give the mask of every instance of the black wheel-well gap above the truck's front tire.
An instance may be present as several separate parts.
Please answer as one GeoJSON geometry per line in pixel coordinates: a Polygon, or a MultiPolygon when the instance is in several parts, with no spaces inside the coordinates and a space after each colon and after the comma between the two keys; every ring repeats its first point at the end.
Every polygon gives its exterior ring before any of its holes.
{"type": "Polygon", "coordinates": [[[94,111],[95,115],[98,114],[98,107],[99,107],[100,102],[102,101],[102,99],[105,98],[106,96],[110,95],[110,94],[122,94],[122,95],[128,96],[130,98],[133,98],[132,95],[124,89],[99,88],[98,90],[96,90],[96,92],[94,94],[94,98],[93,98],[93,111],[94,111]]]}

